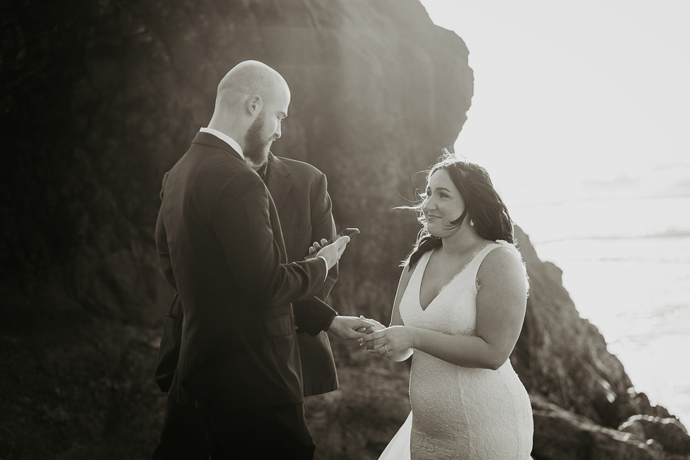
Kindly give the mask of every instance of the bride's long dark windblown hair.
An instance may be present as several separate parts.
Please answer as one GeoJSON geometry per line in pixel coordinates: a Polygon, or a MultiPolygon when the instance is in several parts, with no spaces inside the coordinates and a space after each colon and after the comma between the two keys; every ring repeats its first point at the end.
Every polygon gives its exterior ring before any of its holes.
{"type": "MultiPolygon", "coordinates": [[[[506,208],[500,194],[493,188],[489,173],[484,168],[475,163],[458,159],[452,150],[444,149],[444,156],[426,174],[427,185],[431,176],[438,170],[448,172],[465,202],[465,210],[460,217],[451,222],[453,226],[459,227],[462,221],[469,216],[480,237],[491,241],[502,239],[509,243],[515,243],[513,221],[508,213],[508,208],[506,208]]],[[[415,247],[401,265],[408,268],[415,266],[424,252],[441,246],[441,239],[426,230],[426,219],[424,212],[422,212],[422,203],[426,199],[426,192],[419,195],[420,201],[415,206],[402,206],[404,209],[417,212],[417,220],[423,226],[417,235],[415,247]]]]}

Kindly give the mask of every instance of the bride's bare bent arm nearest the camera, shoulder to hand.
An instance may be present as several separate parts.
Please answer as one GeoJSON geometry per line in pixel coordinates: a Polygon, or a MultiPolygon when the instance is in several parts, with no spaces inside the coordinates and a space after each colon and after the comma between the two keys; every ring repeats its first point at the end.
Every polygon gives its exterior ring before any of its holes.
{"type": "Polygon", "coordinates": [[[500,368],[510,357],[524,321],[527,299],[524,267],[515,252],[497,248],[482,262],[477,279],[482,288],[477,294],[475,336],[449,335],[391,323],[391,328],[363,337],[362,343],[371,348],[372,354],[386,357],[416,348],[456,366],[500,368]],[[381,347],[374,349],[377,345],[381,347]],[[386,353],[384,349],[391,352],[386,353]]]}

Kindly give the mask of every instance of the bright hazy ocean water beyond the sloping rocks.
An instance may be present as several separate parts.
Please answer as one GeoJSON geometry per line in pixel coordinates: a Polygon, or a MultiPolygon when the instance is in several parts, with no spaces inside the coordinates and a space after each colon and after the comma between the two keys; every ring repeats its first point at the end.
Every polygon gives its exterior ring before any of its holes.
{"type": "Polygon", "coordinates": [[[635,390],[690,426],[690,197],[515,206],[635,390]]]}

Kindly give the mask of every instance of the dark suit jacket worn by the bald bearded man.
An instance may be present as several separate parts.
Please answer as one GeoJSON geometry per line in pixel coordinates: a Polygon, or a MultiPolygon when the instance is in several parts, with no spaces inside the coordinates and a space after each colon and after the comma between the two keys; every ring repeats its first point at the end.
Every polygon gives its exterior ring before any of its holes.
{"type": "Polygon", "coordinates": [[[159,261],[184,314],[168,396],[230,411],[301,403],[290,302],[323,288],[324,261],[286,263],[264,182],[212,134],[196,135],[161,194],[159,261]]]}

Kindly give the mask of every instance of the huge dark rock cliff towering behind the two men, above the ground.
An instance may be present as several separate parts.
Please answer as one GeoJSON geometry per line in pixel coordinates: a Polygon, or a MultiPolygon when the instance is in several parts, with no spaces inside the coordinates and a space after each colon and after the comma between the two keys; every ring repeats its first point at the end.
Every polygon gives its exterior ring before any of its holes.
{"type": "Polygon", "coordinates": [[[464,43],[413,0],[3,9],[0,117],[12,135],[1,142],[13,153],[0,185],[11,223],[2,277],[23,290],[50,283],[121,319],[152,317],[167,297],[151,250],[161,177],[239,61],[264,61],[290,84],[274,152],[326,172],[339,226],[364,236],[349,259],[361,278],[390,260],[368,254],[408,248],[414,225],[391,212],[396,190],[414,197],[411,174],[453,143],[472,95],[464,43]]]}

